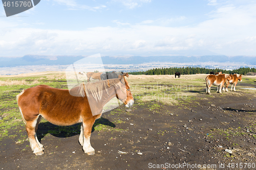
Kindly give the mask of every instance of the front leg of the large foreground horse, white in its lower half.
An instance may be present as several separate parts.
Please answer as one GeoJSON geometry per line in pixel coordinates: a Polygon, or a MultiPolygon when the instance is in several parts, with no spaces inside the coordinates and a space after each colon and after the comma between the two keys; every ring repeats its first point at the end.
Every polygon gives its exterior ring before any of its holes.
{"type": "Polygon", "coordinates": [[[92,127],[93,124],[95,123],[95,117],[92,117],[87,120],[83,120],[83,144],[82,144],[82,149],[84,153],[88,155],[94,155],[95,150],[91,146],[90,143],[90,137],[91,137],[91,132],[92,132],[92,127]]]}

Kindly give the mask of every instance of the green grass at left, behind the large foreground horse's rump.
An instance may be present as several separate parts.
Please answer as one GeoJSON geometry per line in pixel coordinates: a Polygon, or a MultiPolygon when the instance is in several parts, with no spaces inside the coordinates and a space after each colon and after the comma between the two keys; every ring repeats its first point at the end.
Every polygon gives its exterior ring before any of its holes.
{"type": "MultiPolygon", "coordinates": [[[[67,88],[67,83],[60,82],[65,81],[65,79],[55,80],[47,79],[47,76],[30,76],[30,77],[13,77],[13,78],[0,78],[0,81],[5,80],[26,80],[28,83],[32,83],[35,80],[38,81],[37,84],[26,84],[26,85],[4,85],[0,86],[0,140],[3,138],[18,138],[17,143],[22,143],[25,141],[25,136],[23,133],[19,133],[18,129],[24,127],[24,122],[22,116],[20,115],[16,95],[22,92],[23,89],[27,89],[39,84],[46,84],[56,88],[67,88]],[[15,135],[11,135],[10,129],[14,131],[15,135]]],[[[25,129],[24,132],[26,133],[25,129]]]]}

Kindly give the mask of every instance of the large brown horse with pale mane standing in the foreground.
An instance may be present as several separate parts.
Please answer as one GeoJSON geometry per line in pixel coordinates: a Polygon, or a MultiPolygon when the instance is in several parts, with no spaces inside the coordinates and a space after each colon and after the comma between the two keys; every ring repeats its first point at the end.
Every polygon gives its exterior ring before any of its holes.
{"type": "Polygon", "coordinates": [[[58,126],[82,123],[79,143],[82,145],[84,153],[93,155],[95,150],[90,143],[91,131],[95,119],[98,119],[102,114],[103,106],[115,96],[126,107],[130,108],[134,103],[130,86],[124,77],[88,85],[81,83],[80,86],[72,90],[81,95],[74,96],[70,94],[69,90],[47,85],[31,87],[17,95],[18,107],[26,125],[30,147],[35,155],[44,154],[44,147],[36,136],[41,117],[58,126]],[[94,95],[95,92],[99,92],[100,95],[94,95]],[[88,93],[89,95],[87,95],[88,93]],[[96,114],[93,114],[92,110],[96,114]]]}

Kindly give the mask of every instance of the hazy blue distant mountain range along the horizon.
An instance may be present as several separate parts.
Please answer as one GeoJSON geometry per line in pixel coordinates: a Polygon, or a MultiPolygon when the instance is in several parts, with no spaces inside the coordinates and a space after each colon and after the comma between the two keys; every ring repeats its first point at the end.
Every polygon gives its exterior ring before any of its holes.
{"type": "MultiPolygon", "coordinates": [[[[37,56],[26,55],[23,57],[10,58],[0,57],[0,67],[15,67],[24,65],[69,65],[84,56],[37,56]]],[[[256,57],[247,56],[154,56],[154,57],[101,57],[103,64],[143,64],[154,62],[173,62],[173,63],[200,63],[200,62],[216,62],[216,63],[241,63],[248,65],[256,65],[256,57]]],[[[96,63],[95,63],[96,64],[96,63]]]]}

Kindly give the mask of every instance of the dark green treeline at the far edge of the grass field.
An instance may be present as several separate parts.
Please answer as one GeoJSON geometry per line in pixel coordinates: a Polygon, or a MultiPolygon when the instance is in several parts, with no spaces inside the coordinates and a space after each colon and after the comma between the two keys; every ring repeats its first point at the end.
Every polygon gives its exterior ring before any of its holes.
{"type": "Polygon", "coordinates": [[[147,71],[129,72],[131,75],[174,75],[175,72],[180,72],[181,75],[194,75],[194,74],[210,74],[210,71],[222,72],[223,74],[240,74],[245,75],[248,72],[256,72],[255,68],[243,67],[234,70],[224,69],[208,69],[200,67],[170,67],[170,68],[153,68],[147,71]]]}

